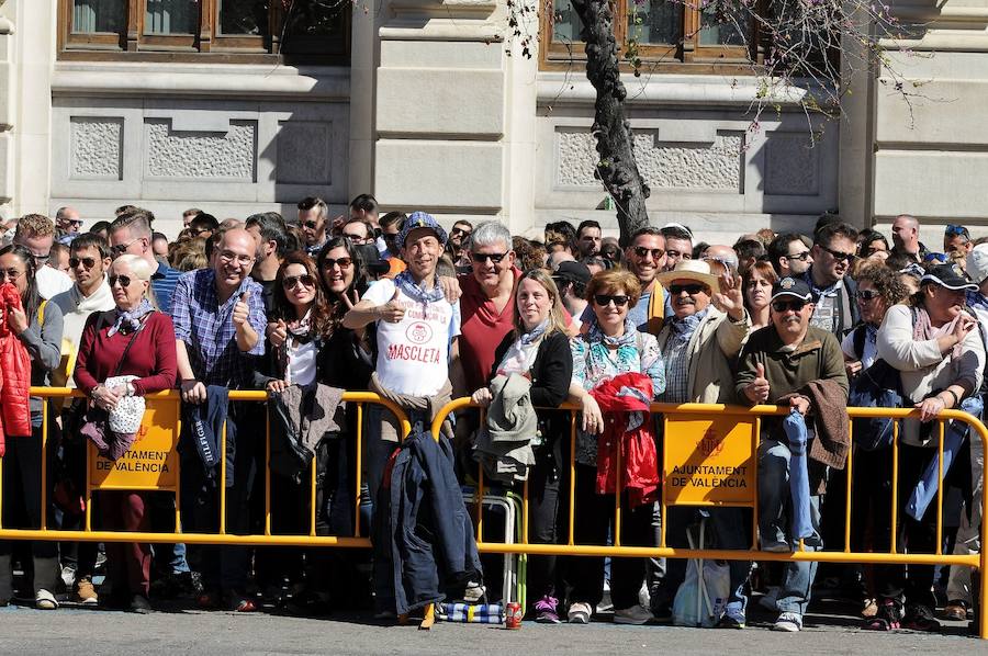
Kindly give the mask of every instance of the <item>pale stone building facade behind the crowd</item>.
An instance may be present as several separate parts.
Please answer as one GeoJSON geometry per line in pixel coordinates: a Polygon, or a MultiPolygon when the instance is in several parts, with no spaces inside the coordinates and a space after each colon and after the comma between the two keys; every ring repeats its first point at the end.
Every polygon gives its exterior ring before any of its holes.
{"type": "MultiPolygon", "coordinates": [[[[121,1],[146,13],[114,23],[119,37],[82,34],[114,1],[0,0],[0,214],[71,204],[97,220],[134,203],[173,235],[190,206],[291,214],[321,195],[343,211],[371,192],[389,210],[498,217],[517,234],[560,218],[615,226],[593,177],[582,65],[544,34],[530,58],[506,45],[502,0],[358,2],[322,37],[332,53],[293,57],[273,54],[287,34],[274,23],[224,33],[226,0],[184,0],[202,12],[186,16],[188,38],[160,37],[169,27],[148,4],[177,0],[121,1]]],[[[240,4],[274,16],[281,3],[240,4]]],[[[861,226],[909,212],[934,244],[940,224],[981,225],[988,0],[894,11],[923,25],[883,44],[918,95],[903,102],[884,71],[858,76],[842,120],[815,124],[813,147],[795,104],[750,129],[757,80],[711,64],[723,53],[699,41],[675,66],[629,75],[653,223],[720,240],[807,230],[833,208],[861,226]]]]}

